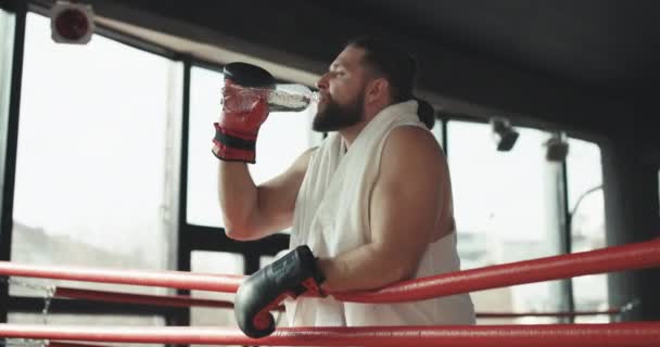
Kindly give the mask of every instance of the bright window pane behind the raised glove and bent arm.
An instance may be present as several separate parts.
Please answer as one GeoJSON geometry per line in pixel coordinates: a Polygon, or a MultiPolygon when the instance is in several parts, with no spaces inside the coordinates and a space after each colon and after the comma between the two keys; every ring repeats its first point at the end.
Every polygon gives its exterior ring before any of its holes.
{"type": "MultiPolygon", "coordinates": [[[[220,112],[223,75],[193,67],[190,86],[190,146],[188,151],[188,222],[223,227],[217,193],[217,158],[211,153],[215,130],[213,123],[220,112]]],[[[275,112],[259,130],[256,164],[250,172],[259,184],[284,171],[305,150],[318,143],[312,132],[315,107],[299,113],[275,112]]]]}

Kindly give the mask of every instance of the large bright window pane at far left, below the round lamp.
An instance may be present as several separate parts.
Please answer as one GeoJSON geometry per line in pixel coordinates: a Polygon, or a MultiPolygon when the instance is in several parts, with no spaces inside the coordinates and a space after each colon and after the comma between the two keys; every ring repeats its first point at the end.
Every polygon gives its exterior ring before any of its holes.
{"type": "Polygon", "coordinates": [[[50,33],[28,14],[12,260],[166,269],[180,64],[101,36],[58,44],[50,33]]]}

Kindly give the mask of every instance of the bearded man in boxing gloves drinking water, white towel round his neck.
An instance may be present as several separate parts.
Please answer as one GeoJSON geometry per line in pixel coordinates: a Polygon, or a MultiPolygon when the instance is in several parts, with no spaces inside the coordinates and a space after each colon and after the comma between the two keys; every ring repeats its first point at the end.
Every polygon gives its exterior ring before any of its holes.
{"type": "MultiPolygon", "coordinates": [[[[459,269],[449,172],[428,129],[432,108],[417,115],[416,69],[409,54],[385,42],[351,41],[317,83],[313,128],[337,133],[259,187],[240,162],[255,159],[252,141],[268,114],[265,98],[248,112],[223,112],[214,153],[223,159],[219,197],[227,235],[255,240],[293,226],[293,250],[248,279],[237,294],[237,319],[248,335],[272,332],[267,312],[285,296],[297,296],[287,301],[295,326],[473,323],[468,295],[392,305],[331,297],[459,269]],[[232,149],[237,137],[249,143],[232,149]]],[[[274,83],[265,70],[255,75],[258,85],[274,83]]]]}

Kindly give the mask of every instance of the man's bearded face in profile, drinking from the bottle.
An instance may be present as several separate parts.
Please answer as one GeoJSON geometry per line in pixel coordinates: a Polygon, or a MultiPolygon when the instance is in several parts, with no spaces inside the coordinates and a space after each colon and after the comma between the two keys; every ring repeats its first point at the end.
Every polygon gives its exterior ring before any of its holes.
{"type": "Polygon", "coordinates": [[[361,65],[364,51],[347,47],[317,82],[321,95],[312,128],[335,131],[364,118],[367,78],[361,65]]]}

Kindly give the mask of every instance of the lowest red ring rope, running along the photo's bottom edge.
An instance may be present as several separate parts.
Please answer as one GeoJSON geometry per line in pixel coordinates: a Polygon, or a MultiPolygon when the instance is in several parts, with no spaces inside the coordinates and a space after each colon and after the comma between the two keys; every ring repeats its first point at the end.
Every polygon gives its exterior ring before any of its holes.
{"type": "Polygon", "coordinates": [[[614,324],[279,329],[253,339],[229,327],[0,324],[0,336],[142,344],[263,346],[651,347],[660,322],[614,324]]]}

